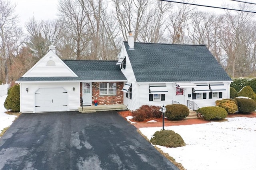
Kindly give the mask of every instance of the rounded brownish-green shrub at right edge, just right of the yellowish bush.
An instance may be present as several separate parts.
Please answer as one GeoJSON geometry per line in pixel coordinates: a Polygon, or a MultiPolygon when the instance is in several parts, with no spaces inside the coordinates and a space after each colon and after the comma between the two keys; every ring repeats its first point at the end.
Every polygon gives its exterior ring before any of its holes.
{"type": "Polygon", "coordinates": [[[256,110],[256,102],[246,97],[236,97],[238,102],[238,111],[240,113],[250,113],[256,110]]]}

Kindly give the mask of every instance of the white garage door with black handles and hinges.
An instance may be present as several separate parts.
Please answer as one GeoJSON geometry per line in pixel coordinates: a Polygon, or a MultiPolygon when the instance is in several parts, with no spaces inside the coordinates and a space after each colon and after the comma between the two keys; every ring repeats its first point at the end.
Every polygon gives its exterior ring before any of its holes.
{"type": "Polygon", "coordinates": [[[68,92],[64,88],[39,88],[35,92],[35,111],[67,111],[68,92]]]}

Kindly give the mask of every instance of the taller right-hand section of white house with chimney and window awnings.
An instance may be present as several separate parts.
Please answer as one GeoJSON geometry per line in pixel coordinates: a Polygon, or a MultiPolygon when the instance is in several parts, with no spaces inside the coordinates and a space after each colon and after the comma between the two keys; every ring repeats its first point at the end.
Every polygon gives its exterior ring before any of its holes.
{"type": "Polygon", "coordinates": [[[130,32],[116,64],[127,79],[122,91],[130,110],[174,103],[196,110],[230,96],[232,79],[205,45],[134,43],[130,32]]]}

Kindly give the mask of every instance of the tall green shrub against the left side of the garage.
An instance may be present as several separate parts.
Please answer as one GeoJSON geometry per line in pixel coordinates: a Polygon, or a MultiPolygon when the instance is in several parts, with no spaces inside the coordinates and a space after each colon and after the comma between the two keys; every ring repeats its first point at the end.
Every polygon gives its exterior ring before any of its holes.
{"type": "Polygon", "coordinates": [[[4,102],[4,107],[7,110],[20,111],[20,86],[14,85],[8,90],[8,96],[4,102]]]}

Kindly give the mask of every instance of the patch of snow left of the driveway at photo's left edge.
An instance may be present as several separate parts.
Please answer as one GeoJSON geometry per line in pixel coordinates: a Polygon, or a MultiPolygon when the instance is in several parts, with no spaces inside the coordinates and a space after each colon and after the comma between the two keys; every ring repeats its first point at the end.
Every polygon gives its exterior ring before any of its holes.
{"type": "Polygon", "coordinates": [[[2,130],[5,128],[5,127],[8,127],[12,124],[12,122],[14,121],[15,115],[8,115],[6,113],[4,113],[5,111],[7,111],[5,108],[4,108],[4,101],[7,97],[7,94],[0,97],[0,133],[2,132],[2,130]]]}

